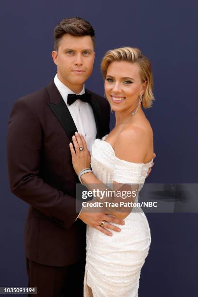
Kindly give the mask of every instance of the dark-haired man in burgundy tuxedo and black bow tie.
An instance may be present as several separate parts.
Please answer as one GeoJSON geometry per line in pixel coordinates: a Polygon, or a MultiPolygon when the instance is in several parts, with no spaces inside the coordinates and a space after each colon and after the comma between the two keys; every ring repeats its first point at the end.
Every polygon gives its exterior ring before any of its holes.
{"type": "Polygon", "coordinates": [[[38,297],[83,296],[86,224],[110,235],[123,221],[103,213],[80,213],[78,177],[69,142],[82,133],[91,151],[95,138],[109,133],[107,101],[84,89],[95,52],[92,26],[79,17],[54,30],[57,75],[49,85],[16,101],[7,136],[11,191],[30,204],[25,228],[29,286],[38,297]],[[75,97],[75,95],[81,95],[75,97]],[[77,206],[76,206],[77,204],[77,206]]]}

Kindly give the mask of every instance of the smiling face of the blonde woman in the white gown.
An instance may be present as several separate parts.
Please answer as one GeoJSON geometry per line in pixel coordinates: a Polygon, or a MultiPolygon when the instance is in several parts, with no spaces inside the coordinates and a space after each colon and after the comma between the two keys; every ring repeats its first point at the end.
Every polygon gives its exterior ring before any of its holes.
{"type": "Polygon", "coordinates": [[[136,63],[115,61],[107,69],[104,89],[112,110],[133,112],[145,92],[146,82],[142,82],[136,63]]]}

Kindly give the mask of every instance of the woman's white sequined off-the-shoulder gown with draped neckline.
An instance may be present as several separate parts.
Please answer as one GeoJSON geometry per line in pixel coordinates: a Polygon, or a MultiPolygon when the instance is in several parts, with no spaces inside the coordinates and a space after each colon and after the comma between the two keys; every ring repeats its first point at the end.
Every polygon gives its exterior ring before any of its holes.
{"type": "MultiPolygon", "coordinates": [[[[91,166],[96,177],[105,184],[140,183],[141,188],[152,161],[136,164],[118,159],[104,141],[106,136],[96,139],[92,147],[91,166]]],[[[138,297],[140,271],[151,242],[150,229],[141,209],[137,212],[135,208],[124,220],[124,226],[118,225],[121,231],[112,231],[112,237],[87,226],[84,297],[138,297]]]]}

